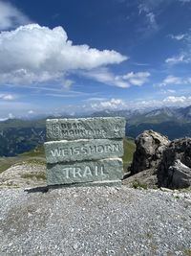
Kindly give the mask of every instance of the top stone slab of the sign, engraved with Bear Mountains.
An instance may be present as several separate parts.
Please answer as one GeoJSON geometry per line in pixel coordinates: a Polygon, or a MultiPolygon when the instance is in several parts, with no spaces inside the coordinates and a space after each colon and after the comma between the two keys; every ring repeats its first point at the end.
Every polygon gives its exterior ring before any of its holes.
{"type": "Polygon", "coordinates": [[[125,125],[122,117],[48,119],[47,140],[123,138],[125,125]]]}

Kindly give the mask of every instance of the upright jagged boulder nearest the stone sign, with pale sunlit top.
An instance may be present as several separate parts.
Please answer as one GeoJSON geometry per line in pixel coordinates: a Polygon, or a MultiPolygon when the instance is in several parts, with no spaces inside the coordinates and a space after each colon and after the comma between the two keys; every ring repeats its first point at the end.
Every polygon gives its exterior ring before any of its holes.
{"type": "Polygon", "coordinates": [[[170,141],[166,136],[153,130],[145,130],[136,139],[137,149],[134,153],[133,163],[130,168],[131,174],[151,168],[157,168],[162,152],[167,148],[170,141]]]}

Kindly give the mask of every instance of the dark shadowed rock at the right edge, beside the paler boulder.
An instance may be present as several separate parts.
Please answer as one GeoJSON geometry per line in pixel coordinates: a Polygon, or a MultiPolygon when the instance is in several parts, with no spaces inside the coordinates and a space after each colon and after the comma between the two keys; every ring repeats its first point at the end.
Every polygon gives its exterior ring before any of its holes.
{"type": "Polygon", "coordinates": [[[191,186],[191,138],[174,140],[163,152],[158,182],[171,189],[191,186]]]}

